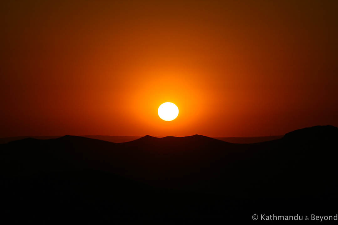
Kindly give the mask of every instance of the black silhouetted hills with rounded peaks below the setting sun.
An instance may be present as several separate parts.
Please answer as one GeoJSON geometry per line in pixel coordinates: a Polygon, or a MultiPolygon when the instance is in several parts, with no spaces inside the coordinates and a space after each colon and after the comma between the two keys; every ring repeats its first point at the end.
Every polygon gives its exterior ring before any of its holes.
{"type": "MultiPolygon", "coordinates": [[[[338,128],[232,144],[205,136],[0,145],[2,218],[196,224],[336,214],[338,128]]],[[[257,222],[257,221],[256,221],[257,222]]]]}

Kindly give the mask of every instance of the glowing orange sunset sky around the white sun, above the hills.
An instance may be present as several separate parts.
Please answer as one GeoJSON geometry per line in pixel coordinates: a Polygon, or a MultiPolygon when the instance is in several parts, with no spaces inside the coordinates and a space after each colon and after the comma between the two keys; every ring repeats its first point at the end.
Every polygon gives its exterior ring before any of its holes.
{"type": "Polygon", "coordinates": [[[0,137],[338,126],[337,1],[1,1],[0,137]],[[178,117],[157,115],[175,103],[178,117]]]}

